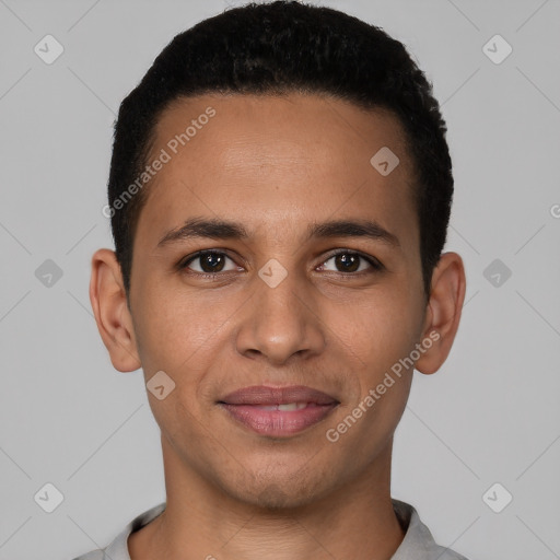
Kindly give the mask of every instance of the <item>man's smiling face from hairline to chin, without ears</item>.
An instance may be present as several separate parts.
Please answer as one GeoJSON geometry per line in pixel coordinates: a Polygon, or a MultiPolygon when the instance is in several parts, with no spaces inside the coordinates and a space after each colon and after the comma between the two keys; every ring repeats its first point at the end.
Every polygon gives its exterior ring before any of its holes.
{"type": "Polygon", "coordinates": [[[167,161],[136,231],[130,313],[145,380],[175,383],[149,394],[164,459],[284,506],[374,469],[412,370],[376,388],[422,341],[427,311],[398,120],[318,95],[208,95],[165,110],[156,158],[167,161]],[[383,147],[399,159],[385,175],[370,162],[383,147]],[[324,395],[283,395],[304,412],[231,396],[254,386],[324,395]]]}

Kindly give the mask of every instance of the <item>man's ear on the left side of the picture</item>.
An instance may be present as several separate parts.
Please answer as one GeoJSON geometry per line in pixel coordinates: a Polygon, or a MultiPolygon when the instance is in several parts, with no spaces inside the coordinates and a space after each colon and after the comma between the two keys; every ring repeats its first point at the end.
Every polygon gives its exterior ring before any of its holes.
{"type": "Polygon", "coordinates": [[[101,338],[110,361],[119,372],[141,366],[122,282],[120,265],[114,250],[98,249],[92,257],[90,301],[101,338]]]}

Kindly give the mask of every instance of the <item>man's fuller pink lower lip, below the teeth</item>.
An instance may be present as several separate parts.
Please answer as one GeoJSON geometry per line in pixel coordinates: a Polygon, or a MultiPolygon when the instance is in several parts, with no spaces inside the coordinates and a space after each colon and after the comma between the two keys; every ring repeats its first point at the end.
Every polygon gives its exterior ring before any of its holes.
{"type": "Polygon", "coordinates": [[[300,410],[264,410],[257,405],[220,405],[236,420],[261,435],[282,436],[299,433],[323,420],[337,405],[310,404],[300,410]]]}

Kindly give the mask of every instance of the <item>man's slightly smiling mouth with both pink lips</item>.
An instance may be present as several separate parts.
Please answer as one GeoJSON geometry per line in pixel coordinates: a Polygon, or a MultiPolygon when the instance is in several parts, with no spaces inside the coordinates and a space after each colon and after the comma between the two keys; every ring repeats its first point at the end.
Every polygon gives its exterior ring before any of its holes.
{"type": "Polygon", "coordinates": [[[253,432],[290,436],[320,422],[340,402],[332,396],[302,385],[245,387],[217,402],[229,417],[253,432]]]}

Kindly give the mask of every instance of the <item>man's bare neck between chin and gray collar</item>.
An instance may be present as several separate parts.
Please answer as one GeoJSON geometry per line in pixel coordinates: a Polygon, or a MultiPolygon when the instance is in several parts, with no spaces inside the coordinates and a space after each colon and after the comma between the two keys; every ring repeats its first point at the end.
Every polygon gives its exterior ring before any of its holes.
{"type": "Polygon", "coordinates": [[[131,560],[388,560],[404,538],[390,501],[392,443],[350,483],[271,510],[242,503],[186,469],[162,438],[166,509],[130,535],[131,560]]]}

